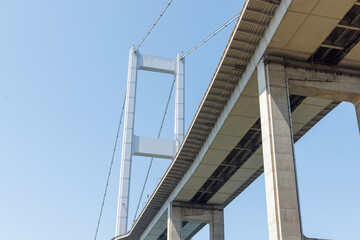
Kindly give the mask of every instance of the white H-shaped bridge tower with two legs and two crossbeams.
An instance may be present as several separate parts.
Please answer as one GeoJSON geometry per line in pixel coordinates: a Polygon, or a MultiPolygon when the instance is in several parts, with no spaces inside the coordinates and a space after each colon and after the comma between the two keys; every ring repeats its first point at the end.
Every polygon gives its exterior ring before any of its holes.
{"type": "Polygon", "coordinates": [[[116,218],[116,235],[125,234],[128,222],[131,159],[133,155],[172,159],[184,138],[184,59],[143,55],[132,47],[125,101],[123,147],[119,182],[119,199],[116,218]],[[174,139],[164,140],[136,136],[134,134],[137,72],[139,70],[172,74],[175,77],[175,125],[174,139]]]}

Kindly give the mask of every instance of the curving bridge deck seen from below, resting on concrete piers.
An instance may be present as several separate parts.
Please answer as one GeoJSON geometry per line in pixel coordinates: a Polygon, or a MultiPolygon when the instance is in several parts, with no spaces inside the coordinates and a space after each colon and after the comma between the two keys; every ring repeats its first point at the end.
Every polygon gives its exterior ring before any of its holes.
{"type": "MultiPolygon", "coordinates": [[[[359,67],[360,1],[248,0],[185,139],[128,234],[166,239],[171,201],[222,208],[262,172],[256,66],[264,54],[359,67]],[[325,40],[324,40],[325,39],[325,40]]],[[[297,141],[339,104],[291,95],[297,141]]],[[[204,226],[183,224],[184,239],[204,226]]]]}

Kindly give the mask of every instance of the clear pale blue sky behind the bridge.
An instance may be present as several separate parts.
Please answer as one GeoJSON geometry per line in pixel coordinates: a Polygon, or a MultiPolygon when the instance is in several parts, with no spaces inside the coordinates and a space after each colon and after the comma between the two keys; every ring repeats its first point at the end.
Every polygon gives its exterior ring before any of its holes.
{"type": "MultiPolygon", "coordinates": [[[[93,239],[124,98],[129,49],[166,0],[0,0],[0,239],[93,239]]],[[[175,58],[240,12],[243,1],[174,0],[140,47],[175,58]]],[[[185,59],[185,128],[234,23],[185,59]]],[[[172,77],[139,72],[135,134],[156,137],[172,77]]],[[[162,138],[173,137],[173,97],[162,138]]],[[[120,132],[122,136],[122,131],[120,132]]],[[[360,138],[342,103],[295,145],[304,234],[356,239],[360,138]]],[[[115,156],[97,239],[115,234],[115,156]]],[[[169,160],[155,159],[141,207],[169,160]]],[[[129,216],[149,164],[134,157],[129,216]]],[[[193,239],[208,239],[208,227],[193,239]]],[[[225,209],[226,239],[267,239],[264,178],[225,209]]]]}

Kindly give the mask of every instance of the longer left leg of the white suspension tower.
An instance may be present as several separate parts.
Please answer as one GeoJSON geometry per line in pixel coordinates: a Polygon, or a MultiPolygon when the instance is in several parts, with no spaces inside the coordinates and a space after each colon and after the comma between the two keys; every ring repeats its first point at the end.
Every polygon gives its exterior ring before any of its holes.
{"type": "Polygon", "coordinates": [[[134,47],[129,53],[128,79],[125,101],[125,117],[123,131],[123,147],[121,152],[121,168],[119,182],[118,209],[116,217],[116,236],[127,232],[129,193],[130,193],[130,173],[131,173],[131,149],[134,137],[134,118],[135,118],[135,96],[137,79],[137,53],[134,47]]]}

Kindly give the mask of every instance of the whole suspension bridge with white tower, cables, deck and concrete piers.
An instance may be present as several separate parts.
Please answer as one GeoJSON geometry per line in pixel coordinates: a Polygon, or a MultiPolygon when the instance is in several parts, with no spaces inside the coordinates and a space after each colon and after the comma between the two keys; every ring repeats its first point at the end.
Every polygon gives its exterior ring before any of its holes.
{"type": "Polygon", "coordinates": [[[247,0],[239,15],[185,54],[142,54],[141,44],[171,2],[129,53],[113,240],[191,239],[206,224],[210,239],[224,239],[224,208],[262,173],[269,239],[309,239],[301,221],[294,143],[342,101],[354,104],[360,128],[360,0],[247,0]],[[234,20],[185,131],[185,56],[234,20]],[[134,135],[140,70],[174,76],[174,139],[160,139],[161,128],[156,139],[134,135]],[[172,162],[127,226],[133,155],[172,162]]]}

